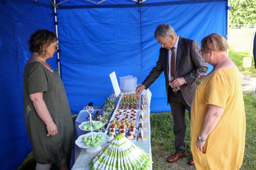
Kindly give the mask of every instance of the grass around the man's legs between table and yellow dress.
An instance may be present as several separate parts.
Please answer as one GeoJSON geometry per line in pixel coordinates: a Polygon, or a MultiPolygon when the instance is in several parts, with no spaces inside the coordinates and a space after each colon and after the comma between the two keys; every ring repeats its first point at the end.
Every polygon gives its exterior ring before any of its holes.
{"type": "Polygon", "coordinates": [[[166,113],[151,113],[151,147],[154,170],[167,169],[195,169],[194,166],[189,166],[188,162],[192,158],[190,151],[190,120],[188,113],[186,114],[187,129],[186,129],[186,150],[187,157],[180,159],[176,163],[167,163],[170,155],[175,153],[175,140],[173,134],[173,119],[170,112],[166,113]]]}

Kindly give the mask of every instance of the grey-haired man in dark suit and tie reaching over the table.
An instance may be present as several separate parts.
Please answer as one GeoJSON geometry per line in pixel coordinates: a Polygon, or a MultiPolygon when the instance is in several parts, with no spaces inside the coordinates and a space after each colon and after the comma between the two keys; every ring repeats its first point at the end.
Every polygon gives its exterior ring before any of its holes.
{"type": "MultiPolygon", "coordinates": [[[[208,67],[199,53],[197,42],[177,35],[170,25],[160,24],[155,30],[155,38],[161,44],[158,61],[144,82],[137,87],[136,93],[140,94],[143,89],[150,87],[162,72],[165,73],[167,104],[170,103],[171,106],[176,150],[167,161],[173,163],[187,155],[186,109],[190,118],[190,107],[196,92],[195,80],[198,74],[205,73],[208,67]],[[171,77],[174,77],[174,80],[170,84],[171,77]],[[176,91],[174,87],[177,88],[176,91]]],[[[193,159],[189,164],[194,165],[193,159]]]]}

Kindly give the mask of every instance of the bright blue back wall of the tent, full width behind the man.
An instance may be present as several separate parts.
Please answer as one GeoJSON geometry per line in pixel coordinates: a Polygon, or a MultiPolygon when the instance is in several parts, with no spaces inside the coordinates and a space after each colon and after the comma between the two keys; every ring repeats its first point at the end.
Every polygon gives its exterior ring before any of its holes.
{"type": "MultiPolygon", "coordinates": [[[[104,103],[104,96],[112,91],[109,74],[113,71],[118,82],[119,76],[128,74],[136,76],[138,83],[146,78],[158,60],[160,45],[154,31],[160,23],[169,23],[177,34],[200,45],[200,40],[210,33],[226,35],[225,8],[224,1],[57,10],[62,80],[72,114],[89,102],[104,103]]],[[[163,74],[150,90],[151,112],[170,111],[163,74]]]]}

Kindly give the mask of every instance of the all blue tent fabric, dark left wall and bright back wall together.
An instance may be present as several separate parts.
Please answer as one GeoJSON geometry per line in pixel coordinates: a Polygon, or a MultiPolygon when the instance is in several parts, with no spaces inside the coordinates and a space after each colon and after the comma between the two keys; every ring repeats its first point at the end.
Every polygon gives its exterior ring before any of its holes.
{"type": "MultiPolygon", "coordinates": [[[[99,2],[99,0],[94,0],[99,2]]],[[[56,0],[56,3],[63,1],[56,0]]],[[[158,60],[154,38],[160,23],[182,37],[200,40],[227,35],[226,0],[106,0],[99,4],[69,0],[57,7],[49,0],[0,2],[0,106],[3,169],[17,169],[31,151],[23,111],[23,71],[31,56],[27,41],[38,29],[58,27],[61,77],[72,114],[89,102],[102,105],[113,89],[109,74],[131,74],[142,82],[158,60]]],[[[47,60],[58,68],[57,55],[47,60]]],[[[209,71],[211,71],[209,66],[209,71]]],[[[169,112],[163,74],[150,87],[151,112],[169,112]]]]}

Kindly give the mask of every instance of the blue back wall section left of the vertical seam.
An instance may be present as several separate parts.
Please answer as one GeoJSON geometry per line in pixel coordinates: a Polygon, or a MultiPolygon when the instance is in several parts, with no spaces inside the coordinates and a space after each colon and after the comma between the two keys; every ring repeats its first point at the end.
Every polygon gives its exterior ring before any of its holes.
{"type": "Polygon", "coordinates": [[[140,76],[137,8],[57,10],[57,15],[62,80],[72,114],[89,102],[104,103],[113,89],[113,71],[118,81],[123,75],[140,76]]]}

